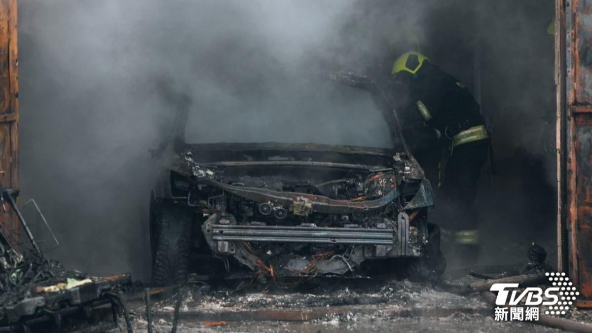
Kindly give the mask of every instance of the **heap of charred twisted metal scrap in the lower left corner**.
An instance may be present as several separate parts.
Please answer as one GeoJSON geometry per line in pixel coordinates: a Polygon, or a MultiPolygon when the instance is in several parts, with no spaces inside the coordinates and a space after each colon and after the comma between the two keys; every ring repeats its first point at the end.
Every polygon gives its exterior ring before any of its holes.
{"type": "Polygon", "coordinates": [[[131,283],[130,276],[91,277],[46,258],[17,207],[17,194],[18,190],[0,188],[31,250],[21,254],[0,228],[0,332],[105,331],[117,327],[120,315],[131,331],[118,293],[131,283]]]}

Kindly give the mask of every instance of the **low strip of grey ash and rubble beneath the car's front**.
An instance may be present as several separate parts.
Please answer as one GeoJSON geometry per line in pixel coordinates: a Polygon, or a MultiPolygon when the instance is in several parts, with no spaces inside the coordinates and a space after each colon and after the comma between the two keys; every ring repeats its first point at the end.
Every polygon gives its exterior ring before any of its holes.
{"type": "MultiPolygon", "coordinates": [[[[463,306],[484,305],[478,296],[462,297],[433,289],[426,284],[386,280],[374,283],[317,286],[308,290],[233,290],[210,286],[188,286],[182,295],[181,310],[253,310],[306,309],[334,306],[401,305],[401,306],[463,306]]],[[[156,312],[172,312],[176,297],[154,303],[156,312]]]]}

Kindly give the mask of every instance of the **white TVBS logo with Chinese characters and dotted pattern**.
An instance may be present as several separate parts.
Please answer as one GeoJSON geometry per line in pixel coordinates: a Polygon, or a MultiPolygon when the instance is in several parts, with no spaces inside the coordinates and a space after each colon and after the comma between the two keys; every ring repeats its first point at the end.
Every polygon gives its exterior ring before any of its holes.
{"type": "MultiPolygon", "coordinates": [[[[536,313],[538,320],[538,307],[542,306],[545,315],[565,315],[575,302],[575,297],[580,293],[575,290],[570,278],[565,273],[545,273],[551,287],[542,289],[539,287],[527,287],[522,292],[518,283],[496,283],[491,286],[491,292],[497,292],[496,320],[525,320],[520,318],[520,313],[536,313]],[[509,306],[509,308],[507,308],[509,306]],[[536,308],[535,308],[536,307],[536,308]],[[516,318],[514,318],[516,314],[516,318]]],[[[532,318],[532,317],[531,317],[532,318]]],[[[527,319],[528,320],[528,319],[527,319]]]]}

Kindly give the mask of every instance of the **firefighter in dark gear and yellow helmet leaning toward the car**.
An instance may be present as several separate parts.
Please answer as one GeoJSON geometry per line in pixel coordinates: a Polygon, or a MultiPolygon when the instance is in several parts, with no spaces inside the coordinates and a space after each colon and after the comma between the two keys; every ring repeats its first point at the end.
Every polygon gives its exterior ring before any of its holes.
{"type": "Polygon", "coordinates": [[[465,85],[419,52],[398,57],[392,78],[404,136],[438,188],[435,222],[452,232],[451,259],[472,264],[478,256],[477,181],[490,152],[480,105],[465,85]]]}

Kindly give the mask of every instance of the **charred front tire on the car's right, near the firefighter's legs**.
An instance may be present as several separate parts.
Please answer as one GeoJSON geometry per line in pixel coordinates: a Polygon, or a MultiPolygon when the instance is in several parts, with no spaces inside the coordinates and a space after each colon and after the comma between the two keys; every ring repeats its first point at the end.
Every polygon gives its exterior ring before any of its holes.
{"type": "Polygon", "coordinates": [[[408,262],[406,275],[410,280],[436,283],[446,269],[446,259],[440,251],[440,227],[427,223],[427,245],[424,257],[408,262]]]}

